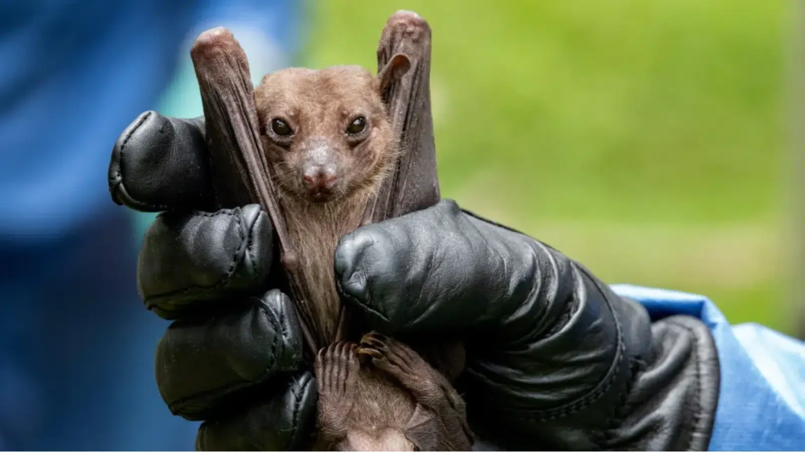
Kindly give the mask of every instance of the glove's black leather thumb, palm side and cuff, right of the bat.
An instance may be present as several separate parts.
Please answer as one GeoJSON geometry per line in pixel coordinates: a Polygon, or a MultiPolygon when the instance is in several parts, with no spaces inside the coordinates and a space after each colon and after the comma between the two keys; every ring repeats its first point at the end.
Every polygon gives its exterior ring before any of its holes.
{"type": "Polygon", "coordinates": [[[375,327],[466,338],[471,425],[506,449],[707,449],[718,362],[704,324],[652,326],[546,244],[443,200],[345,236],[336,275],[375,327]]]}

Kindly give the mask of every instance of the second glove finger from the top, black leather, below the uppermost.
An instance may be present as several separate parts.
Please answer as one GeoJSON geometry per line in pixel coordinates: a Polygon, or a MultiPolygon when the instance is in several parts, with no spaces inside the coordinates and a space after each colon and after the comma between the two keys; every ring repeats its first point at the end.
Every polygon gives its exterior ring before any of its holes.
{"type": "Polygon", "coordinates": [[[271,234],[258,204],[163,212],[143,237],[138,290],[148,309],[167,319],[254,294],[268,282],[271,234]]]}

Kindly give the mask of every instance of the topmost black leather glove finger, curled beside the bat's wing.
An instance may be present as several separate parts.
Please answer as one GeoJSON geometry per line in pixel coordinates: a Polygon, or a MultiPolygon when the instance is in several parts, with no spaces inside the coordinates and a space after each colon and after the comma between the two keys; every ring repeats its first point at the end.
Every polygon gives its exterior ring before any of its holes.
{"type": "Polygon", "coordinates": [[[142,113],[115,142],[109,193],[115,203],[140,212],[209,210],[204,117],[180,119],[142,113]]]}

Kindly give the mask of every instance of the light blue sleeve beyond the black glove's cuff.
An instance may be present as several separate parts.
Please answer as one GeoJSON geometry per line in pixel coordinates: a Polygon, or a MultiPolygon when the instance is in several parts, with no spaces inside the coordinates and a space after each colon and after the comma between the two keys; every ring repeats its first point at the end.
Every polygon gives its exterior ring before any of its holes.
{"type": "Polygon", "coordinates": [[[805,450],[805,343],[753,323],[733,327],[701,295],[612,288],[652,319],[689,314],[712,332],[721,380],[709,450],[805,450]]]}

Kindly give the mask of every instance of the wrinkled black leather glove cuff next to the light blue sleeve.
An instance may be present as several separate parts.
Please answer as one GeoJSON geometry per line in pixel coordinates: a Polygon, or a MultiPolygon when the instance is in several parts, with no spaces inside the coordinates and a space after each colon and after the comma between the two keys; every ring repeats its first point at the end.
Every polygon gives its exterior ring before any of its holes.
{"type": "Polygon", "coordinates": [[[675,315],[652,324],[651,335],[650,354],[635,364],[604,443],[609,450],[708,450],[720,379],[710,331],[675,315]]]}

